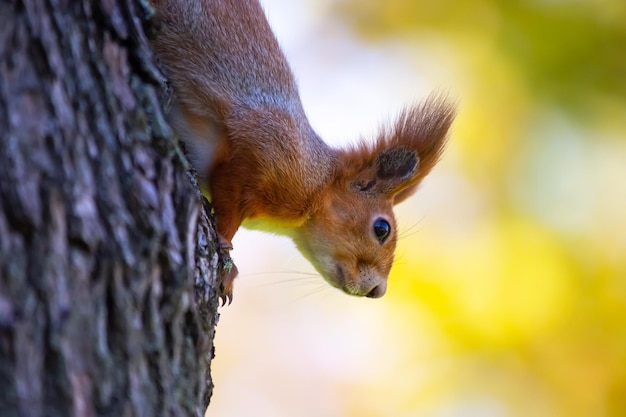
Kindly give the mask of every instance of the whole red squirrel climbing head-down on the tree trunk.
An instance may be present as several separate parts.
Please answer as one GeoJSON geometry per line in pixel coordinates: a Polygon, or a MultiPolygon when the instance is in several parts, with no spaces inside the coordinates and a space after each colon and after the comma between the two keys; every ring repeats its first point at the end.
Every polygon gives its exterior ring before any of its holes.
{"type": "MultiPolygon", "coordinates": [[[[398,237],[393,206],[439,160],[454,108],[405,108],[373,143],[328,146],[258,0],[152,0],[169,120],[209,193],[221,250],[239,226],[287,235],[347,294],[381,297],[398,237]]],[[[232,300],[233,267],[222,279],[232,300]]]]}

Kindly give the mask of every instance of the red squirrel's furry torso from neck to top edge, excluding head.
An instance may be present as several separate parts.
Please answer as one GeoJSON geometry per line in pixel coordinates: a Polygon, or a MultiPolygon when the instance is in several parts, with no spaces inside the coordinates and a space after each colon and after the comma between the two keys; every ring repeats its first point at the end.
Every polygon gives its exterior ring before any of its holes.
{"type": "Polygon", "coordinates": [[[214,205],[230,198],[244,218],[301,221],[335,153],[309,125],[258,0],[154,6],[154,49],[174,90],[169,119],[214,205]]]}

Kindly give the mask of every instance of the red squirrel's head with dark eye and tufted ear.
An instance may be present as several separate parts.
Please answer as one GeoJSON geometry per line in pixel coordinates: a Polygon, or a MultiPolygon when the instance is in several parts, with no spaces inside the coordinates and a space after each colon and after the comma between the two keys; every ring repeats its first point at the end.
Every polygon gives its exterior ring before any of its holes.
{"type": "Polygon", "coordinates": [[[334,181],[294,235],[332,286],[381,297],[398,230],[393,206],[415,192],[443,151],[454,108],[433,97],[404,110],[373,144],[338,152],[334,181]]]}

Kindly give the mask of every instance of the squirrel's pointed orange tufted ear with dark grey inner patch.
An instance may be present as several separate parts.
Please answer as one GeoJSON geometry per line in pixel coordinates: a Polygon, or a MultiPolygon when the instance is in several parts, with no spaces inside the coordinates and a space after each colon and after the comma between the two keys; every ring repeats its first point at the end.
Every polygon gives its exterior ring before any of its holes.
{"type": "Polygon", "coordinates": [[[440,96],[405,109],[373,146],[362,145],[348,155],[361,160],[352,188],[384,194],[394,204],[413,194],[439,160],[454,114],[454,107],[440,96]]]}

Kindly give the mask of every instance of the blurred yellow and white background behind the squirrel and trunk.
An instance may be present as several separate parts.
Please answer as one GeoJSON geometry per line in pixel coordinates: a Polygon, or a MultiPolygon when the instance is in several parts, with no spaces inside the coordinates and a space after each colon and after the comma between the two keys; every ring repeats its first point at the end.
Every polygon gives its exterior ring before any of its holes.
{"type": "Polygon", "coordinates": [[[327,142],[459,115],[382,299],[237,234],[207,416],[626,416],[626,2],[262,3],[327,142]]]}

